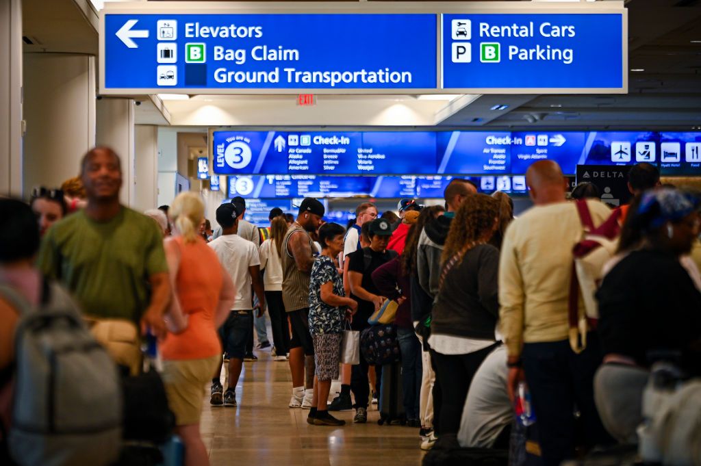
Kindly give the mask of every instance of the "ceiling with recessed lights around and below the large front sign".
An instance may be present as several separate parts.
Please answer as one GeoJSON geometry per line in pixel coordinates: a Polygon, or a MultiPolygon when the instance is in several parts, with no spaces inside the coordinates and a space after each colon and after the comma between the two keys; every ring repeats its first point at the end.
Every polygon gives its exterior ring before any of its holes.
{"type": "MultiPolygon", "coordinates": [[[[701,0],[628,0],[627,95],[318,95],[313,107],[295,96],[138,97],[137,123],[206,127],[406,126],[489,128],[701,128],[701,0]],[[496,104],[507,106],[491,110],[496,104]]],[[[88,0],[23,0],[25,51],[97,53],[88,0]],[[26,40],[25,40],[26,41],[26,40]]],[[[595,72],[595,71],[594,71],[595,72]]]]}

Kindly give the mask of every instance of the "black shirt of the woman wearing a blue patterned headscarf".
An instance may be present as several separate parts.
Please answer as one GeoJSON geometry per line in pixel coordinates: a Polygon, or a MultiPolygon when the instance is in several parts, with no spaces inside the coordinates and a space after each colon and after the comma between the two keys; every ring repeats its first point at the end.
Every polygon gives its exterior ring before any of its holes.
{"type": "Polygon", "coordinates": [[[701,293],[671,254],[636,251],[622,259],[597,292],[604,353],[618,353],[648,366],[651,350],[679,350],[700,369],[690,351],[701,338],[701,293]]]}

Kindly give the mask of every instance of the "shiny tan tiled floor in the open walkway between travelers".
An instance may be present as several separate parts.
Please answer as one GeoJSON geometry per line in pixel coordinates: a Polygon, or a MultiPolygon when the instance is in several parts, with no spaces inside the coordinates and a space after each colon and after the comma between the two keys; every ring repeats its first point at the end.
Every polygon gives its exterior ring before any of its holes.
{"type": "Polygon", "coordinates": [[[287,362],[274,362],[268,351],[257,355],[257,362],[245,363],[236,409],[205,400],[202,433],[212,466],[421,465],[418,429],[377,425],[376,406],[365,425],[353,424],[353,411],[334,413],[346,420],[343,427],[308,425],[308,411],[287,408],[287,362]]]}

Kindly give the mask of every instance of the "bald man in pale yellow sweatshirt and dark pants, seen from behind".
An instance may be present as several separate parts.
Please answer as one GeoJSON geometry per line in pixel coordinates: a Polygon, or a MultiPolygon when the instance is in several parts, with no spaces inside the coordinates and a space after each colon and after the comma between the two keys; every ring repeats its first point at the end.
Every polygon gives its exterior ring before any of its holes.
{"type": "MultiPolygon", "coordinates": [[[[508,348],[510,396],[513,400],[525,375],[543,462],[555,466],[573,458],[575,409],[582,415],[588,444],[608,441],[592,388],[601,354],[596,335],[587,338],[580,354],[569,344],[572,248],[583,227],[576,205],[565,199],[562,170],[552,160],[540,160],[529,167],[526,183],[535,206],[505,234],[499,263],[500,325],[508,348]]],[[[598,200],[587,200],[587,205],[596,225],[611,214],[598,200]]]]}

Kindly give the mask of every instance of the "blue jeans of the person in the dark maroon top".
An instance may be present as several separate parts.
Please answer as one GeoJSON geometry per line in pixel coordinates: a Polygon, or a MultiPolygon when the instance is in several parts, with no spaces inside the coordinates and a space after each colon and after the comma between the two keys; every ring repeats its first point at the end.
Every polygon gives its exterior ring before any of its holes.
{"type": "Polygon", "coordinates": [[[418,419],[418,404],[421,401],[421,342],[414,329],[397,328],[397,341],[402,353],[402,388],[404,389],[404,412],[407,419],[418,419]]]}

